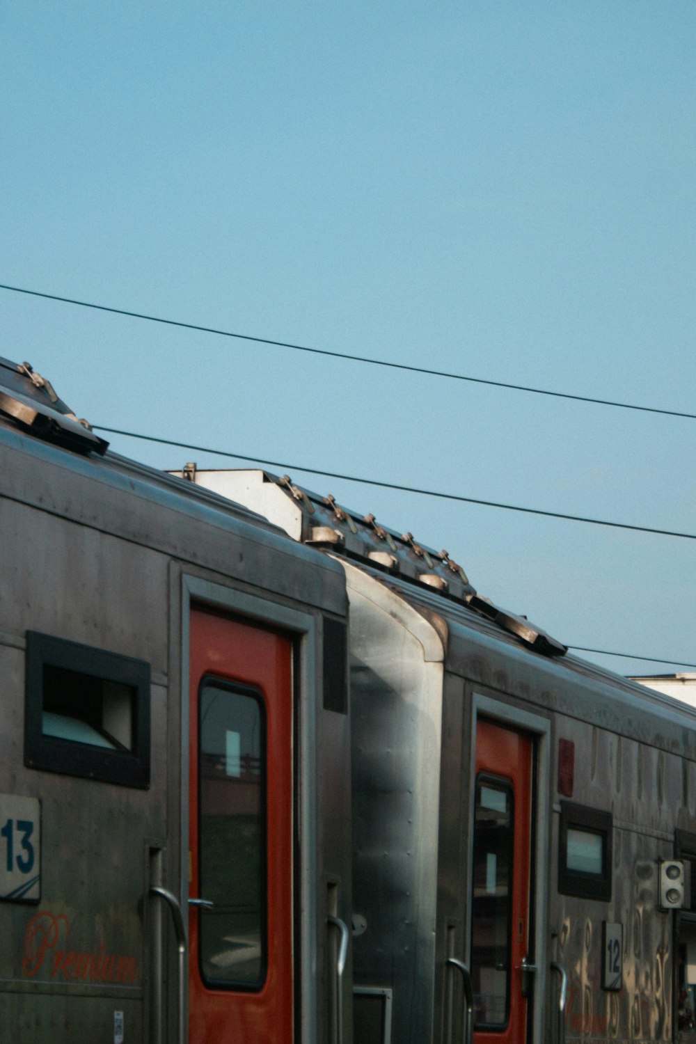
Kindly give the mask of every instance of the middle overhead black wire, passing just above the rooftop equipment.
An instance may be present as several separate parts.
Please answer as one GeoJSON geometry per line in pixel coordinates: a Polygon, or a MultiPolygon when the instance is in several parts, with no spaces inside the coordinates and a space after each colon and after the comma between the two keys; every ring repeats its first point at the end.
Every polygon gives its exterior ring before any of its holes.
{"type": "Polygon", "coordinates": [[[502,504],[495,500],[479,500],[475,497],[462,497],[456,493],[442,493],[438,490],[422,490],[414,485],[400,485],[397,482],[383,482],[376,478],[360,478],[356,475],[341,475],[334,471],[321,471],[318,468],[306,468],[299,464],[287,464],[281,460],[263,460],[261,457],[247,453],[231,453],[226,450],[211,449],[209,446],[193,446],[191,443],[183,443],[172,438],[160,438],[155,435],[143,435],[135,431],[123,431],[120,428],[105,428],[103,425],[95,424],[97,431],[107,431],[113,435],[125,435],[127,438],[140,438],[148,443],[160,443],[163,446],[178,446],[182,449],[195,450],[198,453],[211,453],[215,456],[232,457],[235,460],[254,460],[270,468],[280,468],[283,471],[302,471],[308,475],[321,475],[326,478],[337,478],[345,482],[360,482],[362,485],[376,485],[382,490],[398,490],[401,493],[415,493],[423,497],[437,497],[440,500],[455,500],[465,504],[480,504],[484,507],[499,507],[508,512],[521,512],[525,515],[542,515],[546,518],[565,519],[568,522],[586,522],[591,525],[609,526],[613,529],[632,529],[635,532],[649,532],[658,537],[678,537],[682,540],[696,540],[696,533],[676,532],[673,529],[656,529],[652,526],[631,525],[628,522],[609,522],[603,519],[587,518],[582,515],[565,515],[561,512],[546,512],[538,507],[521,507],[518,504],[502,504]]]}

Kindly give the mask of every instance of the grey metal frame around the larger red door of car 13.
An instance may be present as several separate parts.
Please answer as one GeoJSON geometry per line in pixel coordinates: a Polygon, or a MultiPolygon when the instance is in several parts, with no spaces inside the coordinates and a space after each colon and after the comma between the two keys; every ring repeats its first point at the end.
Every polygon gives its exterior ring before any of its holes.
{"type": "MultiPolygon", "coordinates": [[[[200,576],[182,573],[181,601],[181,862],[178,900],[188,923],[189,892],[189,620],[191,602],[207,609],[234,613],[254,623],[278,627],[293,639],[292,686],[293,686],[293,802],[292,802],[292,846],[297,852],[293,860],[293,967],[295,988],[293,989],[293,1021],[297,1029],[297,1044],[315,1040],[317,1037],[317,1011],[312,1003],[311,984],[314,964],[314,944],[317,923],[317,868],[316,852],[317,800],[316,800],[316,647],[317,621],[320,617],[303,612],[261,595],[249,594],[236,588],[224,587],[200,576]],[[301,756],[297,756],[297,755],[301,756]],[[302,829],[297,830],[299,822],[302,829]],[[298,846],[296,847],[296,839],[298,846]],[[296,901],[295,901],[296,898],[296,901]],[[296,938],[296,910],[303,910],[306,930],[296,938]],[[296,983],[299,982],[299,991],[296,983]],[[296,1006],[299,1004],[299,1012],[296,1006]]],[[[187,931],[188,936],[188,931],[187,931]]],[[[186,1034],[188,1039],[189,1005],[188,976],[185,998],[186,1034]]]]}

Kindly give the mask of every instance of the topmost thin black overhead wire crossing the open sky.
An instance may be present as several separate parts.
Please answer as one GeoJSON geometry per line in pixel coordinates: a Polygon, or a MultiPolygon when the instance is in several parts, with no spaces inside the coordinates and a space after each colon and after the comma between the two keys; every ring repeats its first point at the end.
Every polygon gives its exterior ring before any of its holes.
{"type": "Polygon", "coordinates": [[[288,348],[294,352],[309,352],[312,355],[325,355],[332,359],[345,359],[350,362],[362,362],[370,366],[386,366],[389,370],[404,370],[412,374],[424,374],[429,377],[443,377],[453,381],[469,381],[473,384],[487,384],[491,387],[508,388],[512,392],[528,392],[532,395],[545,395],[554,399],[571,399],[575,402],[587,402],[596,406],[614,406],[618,409],[633,409],[643,413],[662,413],[665,417],[681,417],[696,421],[696,413],[686,413],[676,409],[661,409],[656,406],[639,406],[634,403],[615,402],[611,399],[595,399],[591,396],[572,395],[569,392],[550,392],[548,388],[535,388],[525,384],[512,384],[507,381],[487,380],[483,377],[470,377],[465,374],[453,374],[443,370],[429,370],[426,366],[411,366],[406,362],[389,362],[386,359],[370,359],[364,355],[352,355],[347,352],[332,352],[326,348],[309,348],[307,345],[293,345],[286,340],[272,340],[269,337],[257,337],[253,334],[233,333],[231,330],[219,330],[215,327],[199,326],[196,323],[183,323],[178,319],[167,319],[160,315],[148,315],[144,312],[133,312],[124,308],[112,308],[107,305],[96,305],[89,301],[77,301],[74,298],[62,298],[55,293],[42,293],[39,290],[28,290],[21,286],[9,286],[0,283],[0,289],[11,290],[14,293],[26,293],[32,298],[44,298],[47,301],[59,301],[66,305],[77,305],[80,308],[93,308],[99,312],[110,312],[113,315],[125,315],[128,318],[145,319],[148,323],[160,323],[164,326],[179,327],[183,330],[196,330],[199,333],[215,334],[218,337],[234,337],[238,340],[254,341],[257,345],[270,345],[274,348],[288,348]]]}

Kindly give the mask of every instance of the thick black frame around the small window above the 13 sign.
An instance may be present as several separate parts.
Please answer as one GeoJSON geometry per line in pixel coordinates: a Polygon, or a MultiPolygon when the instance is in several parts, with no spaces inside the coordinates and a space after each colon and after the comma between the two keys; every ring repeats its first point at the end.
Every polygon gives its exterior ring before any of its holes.
{"type": "Polygon", "coordinates": [[[150,785],[150,664],[121,652],[27,631],[25,665],[25,765],[63,776],[147,789],[150,785]],[[116,682],[133,689],[131,749],[111,750],[45,734],[46,667],[116,682]]]}

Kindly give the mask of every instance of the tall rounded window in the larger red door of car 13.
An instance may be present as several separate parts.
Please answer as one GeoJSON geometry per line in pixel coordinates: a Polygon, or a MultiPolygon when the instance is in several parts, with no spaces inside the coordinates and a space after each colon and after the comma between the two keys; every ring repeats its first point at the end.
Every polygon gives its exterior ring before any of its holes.
{"type": "Polygon", "coordinates": [[[260,990],[266,969],[265,715],[254,690],[205,680],[198,721],[200,976],[260,990]]]}

